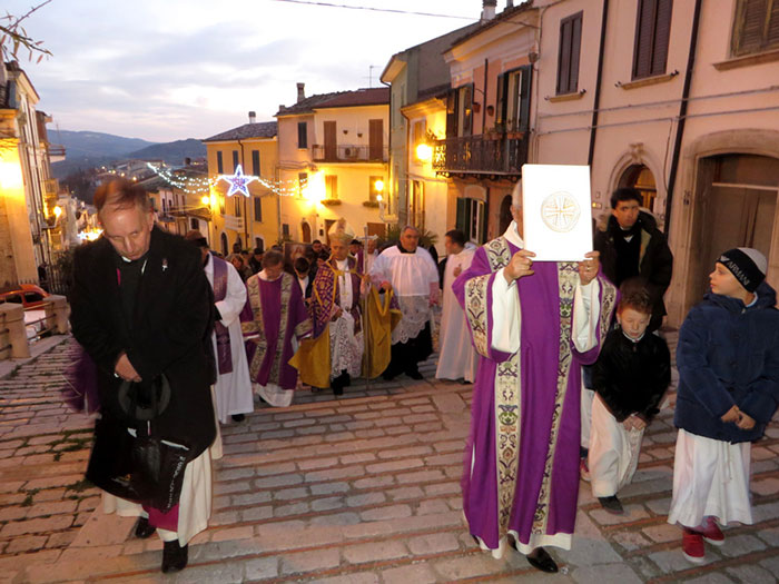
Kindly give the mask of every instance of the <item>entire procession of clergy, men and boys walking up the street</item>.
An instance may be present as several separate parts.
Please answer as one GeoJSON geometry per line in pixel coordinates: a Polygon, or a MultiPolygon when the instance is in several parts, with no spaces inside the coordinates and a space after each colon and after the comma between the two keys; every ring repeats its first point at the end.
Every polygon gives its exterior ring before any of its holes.
{"type": "MultiPolygon", "coordinates": [[[[102,186],[95,202],[103,235],[76,254],[69,298],[100,398],[87,476],[106,513],[137,516],[137,537],[162,540],[162,572],[183,570],[207,528],[220,426],[302,390],[422,380],[435,338],[435,377],[473,384],[461,484],[483,550],[513,547],[556,572],[548,548],[571,548],[580,476],[623,513],[618,492],[670,385],[659,329],[672,256],[637,191],[614,192],[578,261],[542,261],[525,247],[517,182],[505,232],[477,247],[448,230],[440,265],[412,225],[379,247],[342,218],[295,254],[224,259],[197,230],[160,229],[132,182],[102,186]]],[[[669,522],[693,563],[704,542],[722,544],[721,527],[751,523],[749,446],[779,404],[767,260],[736,248],[713,268],[678,354],[669,522]]]]}

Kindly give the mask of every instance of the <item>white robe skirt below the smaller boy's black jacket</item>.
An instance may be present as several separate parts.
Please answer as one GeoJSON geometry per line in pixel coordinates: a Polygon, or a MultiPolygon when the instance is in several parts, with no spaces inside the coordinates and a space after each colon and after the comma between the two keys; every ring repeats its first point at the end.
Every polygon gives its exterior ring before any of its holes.
{"type": "Polygon", "coordinates": [[[630,483],[641,453],[643,429],[627,430],[611,415],[601,396],[592,400],[590,485],[595,497],[610,497],[630,483]]]}

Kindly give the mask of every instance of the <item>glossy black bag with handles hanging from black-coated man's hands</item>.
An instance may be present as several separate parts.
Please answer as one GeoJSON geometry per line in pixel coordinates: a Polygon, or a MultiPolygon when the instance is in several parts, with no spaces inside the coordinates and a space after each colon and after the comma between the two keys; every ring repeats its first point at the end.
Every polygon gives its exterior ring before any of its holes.
{"type": "Polygon", "coordinates": [[[122,383],[120,406],[134,419],[135,436],[127,424],[103,415],[95,424],[95,444],[87,478],[118,497],[167,513],[178,504],[184,469],[190,448],[156,436],[151,420],[170,400],[164,375],[150,384],[122,383]]]}

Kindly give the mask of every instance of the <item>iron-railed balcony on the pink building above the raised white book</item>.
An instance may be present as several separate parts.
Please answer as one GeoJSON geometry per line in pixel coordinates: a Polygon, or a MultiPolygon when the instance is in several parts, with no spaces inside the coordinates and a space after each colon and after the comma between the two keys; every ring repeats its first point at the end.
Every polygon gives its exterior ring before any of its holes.
{"type": "Polygon", "coordinates": [[[519,175],[527,161],[527,132],[444,138],[433,143],[433,170],[450,175],[519,175]]]}

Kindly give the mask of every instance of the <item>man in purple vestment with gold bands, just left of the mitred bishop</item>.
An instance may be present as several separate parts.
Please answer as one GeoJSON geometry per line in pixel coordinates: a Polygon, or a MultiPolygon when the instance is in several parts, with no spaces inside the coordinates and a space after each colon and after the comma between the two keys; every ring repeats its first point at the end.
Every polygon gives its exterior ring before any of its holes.
{"type": "Polygon", "coordinates": [[[300,286],[284,271],[284,256],[270,250],[263,257],[263,270],[246,280],[246,287],[240,326],[252,385],[272,406],[286,407],[297,385],[297,369],[289,359],[296,343],[312,331],[300,286]]]}

